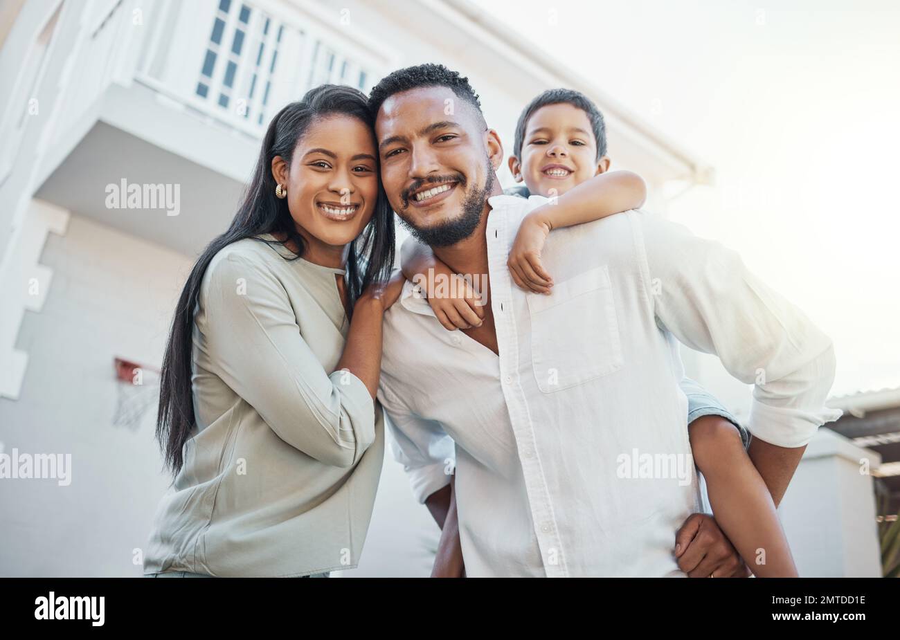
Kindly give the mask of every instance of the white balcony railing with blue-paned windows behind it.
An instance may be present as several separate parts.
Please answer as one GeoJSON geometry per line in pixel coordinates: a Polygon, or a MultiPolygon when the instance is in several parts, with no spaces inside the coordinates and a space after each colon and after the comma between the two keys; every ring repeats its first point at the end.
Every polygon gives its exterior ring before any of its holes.
{"type": "Polygon", "coordinates": [[[116,82],[261,138],[275,112],[312,86],[367,93],[397,59],[340,10],[303,0],[94,0],[80,21],[60,83],[60,133],[116,82]]]}

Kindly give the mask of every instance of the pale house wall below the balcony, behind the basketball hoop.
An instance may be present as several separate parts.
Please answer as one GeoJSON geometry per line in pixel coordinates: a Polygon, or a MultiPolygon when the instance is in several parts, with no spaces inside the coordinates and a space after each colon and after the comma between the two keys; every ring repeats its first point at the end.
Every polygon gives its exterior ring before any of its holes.
{"type": "Polygon", "coordinates": [[[54,271],[40,313],[26,312],[18,347],[30,354],[21,396],[0,398],[4,452],[71,455],[71,484],[0,480],[0,575],[129,576],[166,490],[153,416],[112,425],[112,359],[159,363],[190,266],[177,253],[73,216],[50,235],[54,271]]]}

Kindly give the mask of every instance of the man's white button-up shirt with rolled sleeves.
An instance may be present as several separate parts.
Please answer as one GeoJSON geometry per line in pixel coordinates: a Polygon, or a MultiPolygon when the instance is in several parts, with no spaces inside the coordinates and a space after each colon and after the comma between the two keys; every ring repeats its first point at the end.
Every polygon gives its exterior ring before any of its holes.
{"type": "Polygon", "coordinates": [[[700,510],[678,344],[754,384],[748,429],[782,447],[824,407],[832,342],[739,256],[639,210],[555,230],[550,296],[507,258],[547,200],[489,200],[500,355],[447,332],[411,283],[385,315],[379,399],[392,451],[424,502],[455,467],[470,576],[684,575],[675,532],[700,510]]]}

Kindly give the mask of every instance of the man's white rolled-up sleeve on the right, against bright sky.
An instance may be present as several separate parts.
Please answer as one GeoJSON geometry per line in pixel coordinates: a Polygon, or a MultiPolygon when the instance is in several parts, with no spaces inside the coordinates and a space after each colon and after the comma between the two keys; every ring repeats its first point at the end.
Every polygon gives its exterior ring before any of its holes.
{"type": "Polygon", "coordinates": [[[754,386],[747,424],[754,437],[802,447],[824,422],[841,417],[824,405],[835,369],[828,336],[734,251],[651,214],[632,216],[657,320],[754,386]]]}

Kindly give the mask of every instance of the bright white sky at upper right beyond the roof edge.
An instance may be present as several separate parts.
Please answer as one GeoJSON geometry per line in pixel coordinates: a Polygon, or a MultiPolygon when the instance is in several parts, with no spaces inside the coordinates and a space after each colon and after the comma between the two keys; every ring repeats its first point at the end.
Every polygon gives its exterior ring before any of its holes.
{"type": "Polygon", "coordinates": [[[834,394],[900,387],[900,2],[482,5],[715,167],[671,218],[832,336],[834,394]]]}

